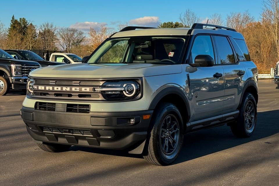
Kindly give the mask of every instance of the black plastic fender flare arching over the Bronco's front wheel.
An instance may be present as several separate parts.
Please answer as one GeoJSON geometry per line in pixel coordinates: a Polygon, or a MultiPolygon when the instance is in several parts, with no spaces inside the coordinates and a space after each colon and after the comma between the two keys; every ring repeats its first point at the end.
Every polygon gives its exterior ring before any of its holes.
{"type": "MultiPolygon", "coordinates": [[[[184,92],[178,88],[178,87],[167,87],[167,88],[164,88],[163,90],[161,90],[156,96],[155,98],[152,100],[150,106],[149,106],[149,110],[154,110],[156,105],[159,103],[159,101],[164,97],[164,96],[167,96],[168,94],[176,94],[178,95],[181,99],[183,99],[184,101],[184,104],[187,108],[187,121],[185,121],[185,124],[189,121],[190,119],[190,106],[189,106],[189,102],[188,102],[188,99],[186,97],[186,95],[184,94],[184,92]]],[[[181,113],[181,115],[183,115],[183,113],[181,113]]]]}

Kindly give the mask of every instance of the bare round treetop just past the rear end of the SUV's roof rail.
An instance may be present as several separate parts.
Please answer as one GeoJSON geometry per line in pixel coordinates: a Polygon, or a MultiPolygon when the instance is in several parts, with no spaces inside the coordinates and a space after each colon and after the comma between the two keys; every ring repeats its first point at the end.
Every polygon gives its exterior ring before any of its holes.
{"type": "Polygon", "coordinates": [[[254,17],[246,10],[245,12],[231,12],[226,18],[227,26],[230,28],[235,28],[237,31],[241,31],[246,28],[248,23],[254,21],[254,17]]]}

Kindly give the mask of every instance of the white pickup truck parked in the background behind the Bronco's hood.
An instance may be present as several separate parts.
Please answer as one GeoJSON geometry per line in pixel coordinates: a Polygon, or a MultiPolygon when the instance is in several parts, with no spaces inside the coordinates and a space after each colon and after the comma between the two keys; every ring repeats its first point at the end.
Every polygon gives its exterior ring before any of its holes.
{"type": "Polygon", "coordinates": [[[65,62],[66,64],[81,63],[81,58],[72,53],[52,53],[50,61],[65,62]]]}

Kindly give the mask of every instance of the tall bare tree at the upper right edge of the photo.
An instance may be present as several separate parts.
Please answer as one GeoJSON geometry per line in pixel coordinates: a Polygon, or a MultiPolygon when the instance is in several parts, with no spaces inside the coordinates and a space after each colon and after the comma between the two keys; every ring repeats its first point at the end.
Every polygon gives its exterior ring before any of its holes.
{"type": "Polygon", "coordinates": [[[277,60],[279,59],[279,0],[266,0],[263,3],[263,12],[261,15],[262,23],[271,34],[277,49],[277,60]]]}

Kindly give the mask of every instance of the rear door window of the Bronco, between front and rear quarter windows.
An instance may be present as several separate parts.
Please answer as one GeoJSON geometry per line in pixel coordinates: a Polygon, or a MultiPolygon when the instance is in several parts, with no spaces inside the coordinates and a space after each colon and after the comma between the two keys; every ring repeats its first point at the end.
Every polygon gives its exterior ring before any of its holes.
{"type": "Polygon", "coordinates": [[[227,37],[214,36],[221,64],[234,64],[235,56],[227,37]]]}

